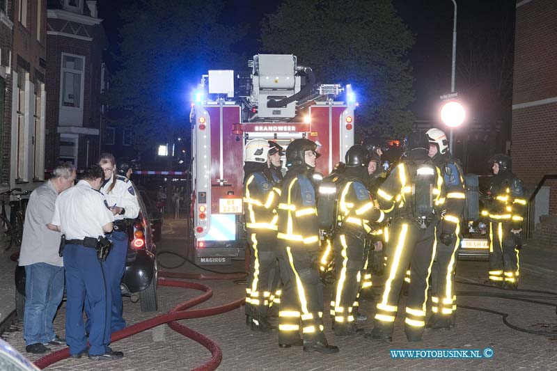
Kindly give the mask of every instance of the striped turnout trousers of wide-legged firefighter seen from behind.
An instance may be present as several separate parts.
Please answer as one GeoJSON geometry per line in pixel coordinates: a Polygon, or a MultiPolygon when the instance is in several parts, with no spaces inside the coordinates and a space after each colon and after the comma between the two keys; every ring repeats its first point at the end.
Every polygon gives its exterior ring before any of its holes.
{"type": "Polygon", "coordinates": [[[406,302],[405,332],[408,340],[420,340],[425,327],[425,302],[433,258],[437,250],[436,223],[419,228],[411,221],[393,221],[388,275],[385,288],[377,303],[373,333],[392,336],[398,312],[400,288],[410,265],[411,282],[406,302]]]}

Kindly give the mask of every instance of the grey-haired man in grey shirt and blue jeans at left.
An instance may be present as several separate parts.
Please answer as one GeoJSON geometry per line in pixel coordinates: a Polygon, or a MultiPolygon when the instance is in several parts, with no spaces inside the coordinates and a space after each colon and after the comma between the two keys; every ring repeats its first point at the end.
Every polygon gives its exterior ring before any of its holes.
{"type": "Polygon", "coordinates": [[[60,233],[49,230],[58,194],[72,187],[75,168],[58,165],[50,180],[35,189],[25,212],[19,266],[25,268],[25,312],[23,337],[28,353],[42,354],[45,345],[64,345],[54,333],[52,321],[64,294],[64,267],[58,256],[60,233]]]}

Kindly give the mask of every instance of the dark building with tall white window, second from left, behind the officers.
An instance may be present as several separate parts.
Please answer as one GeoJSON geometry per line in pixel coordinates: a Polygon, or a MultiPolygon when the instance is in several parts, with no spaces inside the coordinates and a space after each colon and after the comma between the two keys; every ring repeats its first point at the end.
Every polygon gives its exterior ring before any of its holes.
{"type": "Polygon", "coordinates": [[[96,1],[49,0],[46,168],[71,161],[83,169],[100,155],[106,38],[96,1]]]}

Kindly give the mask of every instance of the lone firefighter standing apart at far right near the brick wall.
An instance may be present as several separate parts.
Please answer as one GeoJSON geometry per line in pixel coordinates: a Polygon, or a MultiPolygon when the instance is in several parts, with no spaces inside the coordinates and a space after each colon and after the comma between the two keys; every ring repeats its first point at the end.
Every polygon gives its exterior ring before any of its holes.
{"type": "Polygon", "coordinates": [[[495,155],[494,177],[487,192],[483,216],[489,217],[489,281],[516,290],[519,281],[520,232],[526,209],[522,181],[511,173],[511,159],[495,155]]]}

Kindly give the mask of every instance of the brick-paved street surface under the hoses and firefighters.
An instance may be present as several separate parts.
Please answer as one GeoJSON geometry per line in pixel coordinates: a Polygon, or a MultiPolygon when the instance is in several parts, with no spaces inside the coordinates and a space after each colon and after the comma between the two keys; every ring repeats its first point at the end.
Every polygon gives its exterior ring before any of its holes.
{"type": "MultiPolygon", "coordinates": [[[[183,223],[166,220],[164,239],[159,251],[168,250],[185,253],[185,235],[183,223]]],[[[6,254],[4,254],[6,255],[6,254]]],[[[0,308],[8,308],[12,303],[13,276],[6,274],[12,269],[6,256],[0,255],[0,308]]],[[[175,265],[179,258],[163,255],[160,262],[175,265]]],[[[535,246],[526,246],[521,254],[521,289],[557,291],[557,250],[544,250],[535,246]]],[[[237,271],[242,269],[242,262],[232,266],[210,267],[219,271],[237,271]]],[[[159,268],[166,270],[163,268],[159,268]]],[[[171,271],[194,273],[199,270],[186,264],[171,271]]],[[[487,262],[458,262],[457,280],[483,283],[487,279],[487,262]]],[[[208,308],[229,303],[243,296],[245,285],[233,281],[199,281],[212,287],[214,296],[196,308],[208,308]]],[[[529,331],[547,331],[557,333],[557,294],[538,292],[508,292],[490,287],[469,284],[457,284],[457,290],[466,295],[473,292],[491,292],[497,294],[517,294],[535,297],[538,301],[552,303],[551,306],[515,301],[510,299],[465,296],[458,297],[459,306],[486,308],[508,313],[510,324],[529,331]]],[[[325,287],[325,310],[329,313],[328,298],[331,287],[325,287]]],[[[158,313],[141,313],[139,303],[124,300],[124,313],[128,324],[148,319],[156,314],[166,313],[182,301],[196,297],[199,292],[178,287],[159,286],[158,313]]],[[[368,320],[361,326],[370,330],[372,315],[375,311],[372,299],[363,301],[363,311],[368,320]]],[[[402,297],[399,308],[405,308],[402,297]]],[[[428,306],[429,308],[429,306],[428,306]]],[[[9,310],[9,308],[8,308],[9,310]]],[[[334,355],[306,354],[299,347],[280,349],[276,333],[254,332],[245,326],[243,308],[214,317],[182,320],[180,323],[219,344],[223,360],[219,370],[385,370],[385,369],[436,369],[436,370],[557,370],[557,338],[534,335],[511,329],[503,324],[500,315],[459,308],[457,326],[450,330],[426,330],[421,342],[407,342],[404,326],[404,313],[398,314],[392,343],[365,340],[362,336],[335,337],[331,332],[331,322],[325,315],[327,338],[340,347],[340,353],[334,355]],[[393,359],[389,349],[485,349],[492,348],[491,358],[481,359],[393,359]]],[[[59,336],[64,336],[65,304],[61,306],[54,322],[59,336]]],[[[10,342],[19,352],[24,353],[22,324],[16,322],[5,331],[2,338],[10,342]]],[[[51,365],[47,370],[189,370],[210,359],[210,353],[198,343],[175,333],[166,325],[139,333],[131,338],[115,342],[111,347],[125,353],[125,358],[118,361],[93,362],[87,358],[63,360],[51,365]]],[[[54,347],[54,350],[63,347],[54,347]]],[[[40,356],[28,356],[36,361],[40,356]]]]}

